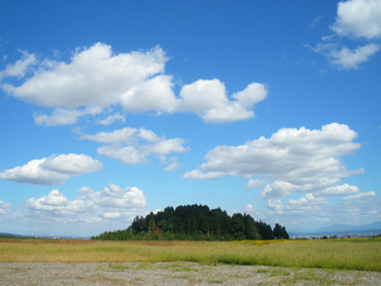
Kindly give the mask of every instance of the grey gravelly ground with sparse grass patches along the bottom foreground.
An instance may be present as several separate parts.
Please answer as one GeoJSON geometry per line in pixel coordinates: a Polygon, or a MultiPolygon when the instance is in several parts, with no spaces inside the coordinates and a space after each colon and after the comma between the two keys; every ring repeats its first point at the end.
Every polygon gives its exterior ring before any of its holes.
{"type": "Polygon", "coordinates": [[[380,272],[160,263],[0,263],[0,285],[381,285],[380,272]]]}

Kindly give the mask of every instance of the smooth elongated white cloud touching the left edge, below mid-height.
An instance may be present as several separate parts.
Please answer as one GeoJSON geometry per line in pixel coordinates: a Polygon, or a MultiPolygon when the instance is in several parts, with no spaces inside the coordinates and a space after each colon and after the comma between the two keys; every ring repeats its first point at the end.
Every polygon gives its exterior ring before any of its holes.
{"type": "Polygon", "coordinates": [[[60,185],[72,176],[98,171],[102,163],[85,154],[60,154],[36,159],[0,173],[0,179],[34,185],[60,185]]]}

